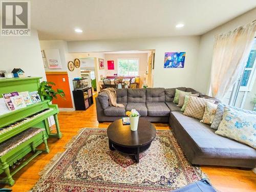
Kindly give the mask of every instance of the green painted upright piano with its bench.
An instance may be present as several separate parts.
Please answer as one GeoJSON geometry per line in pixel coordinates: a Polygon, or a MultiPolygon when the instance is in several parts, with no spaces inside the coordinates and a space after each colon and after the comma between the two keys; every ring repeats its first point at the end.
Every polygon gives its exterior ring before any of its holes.
{"type": "MultiPolygon", "coordinates": [[[[0,79],[0,98],[4,93],[37,91],[40,79],[41,77],[0,79]]],[[[12,176],[18,170],[40,153],[49,153],[47,139],[61,138],[58,112],[56,104],[50,104],[49,100],[41,98],[41,102],[0,115],[0,174],[5,173],[5,177],[0,178],[1,183],[14,185],[12,176]],[[48,123],[50,116],[55,120],[54,133],[51,133],[48,123]],[[45,144],[45,150],[36,148],[41,143],[45,144]],[[30,152],[33,155],[25,159],[30,152]]]]}

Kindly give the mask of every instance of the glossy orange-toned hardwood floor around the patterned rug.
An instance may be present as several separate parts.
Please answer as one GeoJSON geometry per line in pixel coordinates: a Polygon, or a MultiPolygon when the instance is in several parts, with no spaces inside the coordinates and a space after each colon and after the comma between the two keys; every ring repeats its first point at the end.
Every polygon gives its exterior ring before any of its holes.
{"type": "MultiPolygon", "coordinates": [[[[58,115],[60,130],[63,137],[60,140],[49,138],[49,154],[42,154],[32,160],[20,170],[13,178],[15,185],[11,187],[14,192],[30,190],[39,179],[38,173],[58,152],[65,151],[65,144],[77,134],[82,127],[108,127],[110,123],[98,123],[96,106],[93,104],[87,111],[60,112],[58,115]]],[[[154,123],[158,130],[168,130],[170,127],[164,123],[154,123]]],[[[220,191],[256,191],[256,174],[251,170],[238,168],[202,166],[211,183],[220,191]]],[[[9,186],[0,185],[10,188],[9,186]]]]}

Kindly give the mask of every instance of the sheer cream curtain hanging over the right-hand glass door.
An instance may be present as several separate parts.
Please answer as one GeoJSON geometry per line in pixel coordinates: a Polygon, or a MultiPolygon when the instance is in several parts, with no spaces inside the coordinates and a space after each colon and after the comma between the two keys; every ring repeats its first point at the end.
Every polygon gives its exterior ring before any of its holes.
{"type": "Polygon", "coordinates": [[[256,22],[216,36],[211,64],[212,96],[222,100],[243,73],[252,46],[256,22]]]}

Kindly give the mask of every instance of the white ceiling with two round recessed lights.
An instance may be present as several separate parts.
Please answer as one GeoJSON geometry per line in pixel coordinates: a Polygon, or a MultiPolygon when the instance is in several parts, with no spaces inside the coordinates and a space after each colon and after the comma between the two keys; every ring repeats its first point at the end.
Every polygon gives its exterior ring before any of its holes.
{"type": "Polygon", "coordinates": [[[33,0],[31,26],[40,40],[201,35],[255,7],[255,0],[33,0]]]}

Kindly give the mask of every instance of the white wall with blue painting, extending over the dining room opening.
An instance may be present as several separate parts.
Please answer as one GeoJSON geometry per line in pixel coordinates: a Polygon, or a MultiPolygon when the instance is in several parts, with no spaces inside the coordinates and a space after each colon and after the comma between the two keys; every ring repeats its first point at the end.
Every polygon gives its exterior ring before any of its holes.
{"type": "MultiPolygon", "coordinates": [[[[195,87],[199,36],[139,38],[120,40],[68,41],[70,53],[128,50],[156,50],[154,87],[195,87]],[[186,52],[185,66],[181,69],[164,69],[165,52],[186,52]]],[[[106,62],[106,61],[105,61],[106,62]]]]}

